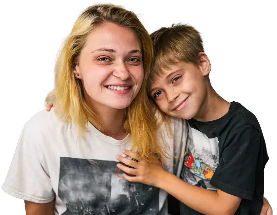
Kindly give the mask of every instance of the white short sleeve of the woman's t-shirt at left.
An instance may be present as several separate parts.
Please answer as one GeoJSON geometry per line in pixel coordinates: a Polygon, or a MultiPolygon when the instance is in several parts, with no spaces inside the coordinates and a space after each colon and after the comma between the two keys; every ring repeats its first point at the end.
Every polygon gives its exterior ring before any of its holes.
{"type": "Polygon", "coordinates": [[[13,197],[35,203],[54,199],[51,180],[43,168],[43,153],[32,128],[26,123],[21,131],[2,190],[13,197]]]}

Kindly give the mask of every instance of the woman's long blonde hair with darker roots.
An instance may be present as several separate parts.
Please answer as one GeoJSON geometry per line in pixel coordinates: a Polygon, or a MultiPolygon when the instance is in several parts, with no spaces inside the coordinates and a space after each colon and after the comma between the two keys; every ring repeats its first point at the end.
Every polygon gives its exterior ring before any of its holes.
{"type": "Polygon", "coordinates": [[[132,149],[136,149],[144,159],[149,159],[151,154],[156,153],[163,160],[164,151],[156,137],[158,123],[147,96],[153,43],[136,13],[123,5],[97,1],[79,12],[53,59],[54,90],[48,92],[44,102],[54,99],[55,113],[65,122],[73,121],[77,124],[80,136],[86,131],[88,121],[101,131],[100,120],[85,102],[81,81],[74,77],[73,69],[78,63],[86,37],[93,29],[107,22],[133,30],[142,43],[144,80],[138,95],[126,108],[124,123],[124,129],[132,137],[132,149]]]}

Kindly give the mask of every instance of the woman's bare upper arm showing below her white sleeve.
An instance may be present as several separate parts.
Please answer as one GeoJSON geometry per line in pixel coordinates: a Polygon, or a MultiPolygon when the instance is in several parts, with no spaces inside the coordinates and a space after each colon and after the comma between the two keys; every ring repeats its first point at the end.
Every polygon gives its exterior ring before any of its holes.
{"type": "Polygon", "coordinates": [[[45,204],[24,201],[24,206],[25,215],[54,215],[54,200],[45,204]]]}

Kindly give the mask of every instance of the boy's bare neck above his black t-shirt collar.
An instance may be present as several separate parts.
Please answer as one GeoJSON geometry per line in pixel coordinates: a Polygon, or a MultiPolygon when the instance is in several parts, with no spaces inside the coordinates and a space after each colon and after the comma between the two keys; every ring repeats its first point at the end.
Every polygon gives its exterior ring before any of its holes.
{"type": "Polygon", "coordinates": [[[193,117],[197,121],[213,121],[224,116],[230,107],[230,103],[223,99],[213,89],[210,82],[207,84],[206,98],[200,107],[198,113],[193,117]]]}

